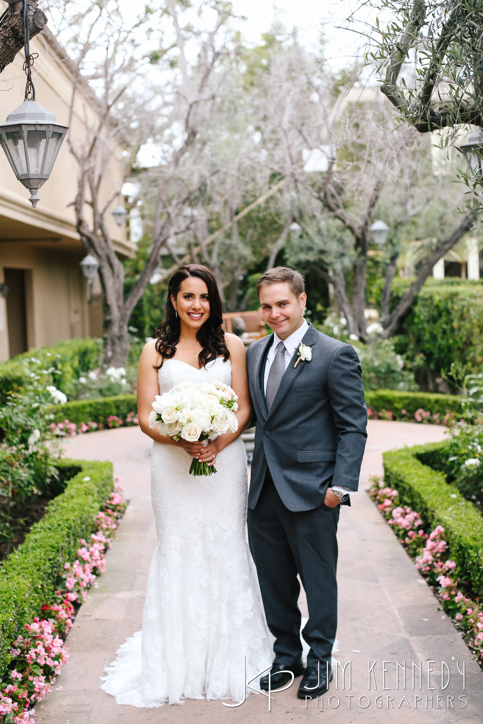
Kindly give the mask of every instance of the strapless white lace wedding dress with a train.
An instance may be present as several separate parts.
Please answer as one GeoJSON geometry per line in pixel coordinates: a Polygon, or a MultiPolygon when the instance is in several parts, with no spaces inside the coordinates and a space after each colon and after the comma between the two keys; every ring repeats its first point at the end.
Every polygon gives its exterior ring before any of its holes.
{"type": "MultiPolygon", "coordinates": [[[[159,392],[190,379],[231,384],[230,360],[195,369],[167,360],[159,392]]],[[[151,502],[158,545],[143,631],[125,641],[102,689],[118,704],[159,707],[182,699],[232,699],[273,660],[256,569],[245,537],[248,478],[241,437],[219,452],[217,473],[188,474],[181,448],[154,442],[151,502]]],[[[252,686],[257,686],[254,681],[252,686]]],[[[250,693],[246,689],[246,694],[250,693]]]]}

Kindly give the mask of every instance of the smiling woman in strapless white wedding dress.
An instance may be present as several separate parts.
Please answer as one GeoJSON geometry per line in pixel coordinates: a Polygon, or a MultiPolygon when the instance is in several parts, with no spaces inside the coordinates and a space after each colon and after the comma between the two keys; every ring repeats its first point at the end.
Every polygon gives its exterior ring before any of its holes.
{"type": "Polygon", "coordinates": [[[182,266],[169,282],[166,321],[140,358],[138,419],[154,440],[151,502],[158,545],[143,631],[122,644],[102,685],[118,704],[159,707],[204,696],[240,702],[243,657],[246,681],[272,664],[245,538],[248,478],[240,434],[251,418],[245,348],[234,334],[224,334],[222,321],[214,274],[200,264],[182,266]],[[238,432],[205,447],[150,429],[155,395],[185,380],[230,385],[238,395],[238,432]],[[217,473],[189,475],[193,457],[216,463],[217,473]]]}

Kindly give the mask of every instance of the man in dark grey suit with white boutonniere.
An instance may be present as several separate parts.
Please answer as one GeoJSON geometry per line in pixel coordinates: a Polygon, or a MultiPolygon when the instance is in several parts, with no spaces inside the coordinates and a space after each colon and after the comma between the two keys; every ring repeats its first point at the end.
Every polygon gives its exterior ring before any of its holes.
{"type": "MultiPolygon", "coordinates": [[[[290,682],[287,671],[303,674],[298,697],[305,699],[327,691],[327,662],[332,679],[337,522],[340,504],[350,505],[358,488],[367,411],[353,347],[303,319],[302,275],[278,266],[259,279],[256,292],[274,334],[247,353],[256,414],[248,539],[275,637],[271,688],[290,682]],[[310,646],[305,670],[297,574],[309,615],[302,632],[310,646]]],[[[268,689],[268,675],[261,688],[268,689]]]]}

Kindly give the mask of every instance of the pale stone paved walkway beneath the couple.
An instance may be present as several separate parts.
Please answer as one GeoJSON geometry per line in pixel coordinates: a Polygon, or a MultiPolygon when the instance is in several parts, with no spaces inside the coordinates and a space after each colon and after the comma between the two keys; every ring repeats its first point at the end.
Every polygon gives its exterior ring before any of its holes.
{"type": "MultiPolygon", "coordinates": [[[[351,689],[346,679],[343,690],[339,677],[338,689],[333,681],[329,691],[334,695],[330,699],[334,708],[329,707],[327,695],[323,708],[320,700],[319,708],[314,701],[308,702],[306,708],[297,699],[293,686],[282,694],[274,694],[276,701],[272,702],[271,713],[265,696],[249,696],[235,709],[227,709],[222,702],[188,699],[182,706],[143,710],[119,706],[112,696],[99,689],[104,666],[115,657],[116,649],[127,636],[141,626],[146,577],[156,545],[149,501],[151,442],[138,428],[95,432],[72,440],[67,446],[69,457],[112,460],[115,472],[122,476],[130,505],[119,527],[119,539],[107,554],[107,571],[99,579],[98,589],[91,591],[91,597],[81,607],[68,636],[70,662],[58,679],[62,690],[53,691],[37,708],[38,724],[239,724],[324,719],[337,724],[481,724],[482,673],[450,621],[442,618],[437,600],[364,492],[368,476],[382,472],[382,451],[440,439],[440,427],[369,421],[361,492],[356,494],[353,506],[343,510],[338,535],[339,651],[335,657],[341,664],[351,661],[351,689]],[[377,662],[377,691],[372,681],[371,690],[368,689],[369,661],[377,662]],[[399,689],[395,688],[396,661],[406,661],[406,690],[402,678],[399,689]],[[418,675],[415,690],[411,681],[411,663],[419,665],[420,661],[424,672],[421,691],[418,675]],[[444,691],[442,661],[451,673],[450,684],[444,691]],[[463,662],[465,665],[464,691],[457,662],[461,670],[463,662]],[[427,684],[428,667],[433,670],[431,691],[427,684]],[[378,695],[382,699],[376,699],[378,695]],[[463,695],[467,706],[459,708],[463,703],[458,696],[463,695]],[[364,696],[369,699],[360,698],[364,696]],[[421,696],[416,710],[415,696],[421,696]],[[449,700],[450,708],[448,696],[454,697],[449,700]]],[[[300,605],[306,614],[303,594],[300,605]]]]}

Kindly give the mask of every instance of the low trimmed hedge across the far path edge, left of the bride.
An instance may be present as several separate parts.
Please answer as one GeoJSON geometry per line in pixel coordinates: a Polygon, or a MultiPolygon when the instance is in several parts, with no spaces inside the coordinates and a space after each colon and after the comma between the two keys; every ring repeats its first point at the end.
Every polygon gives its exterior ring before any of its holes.
{"type": "Polygon", "coordinates": [[[54,414],[54,422],[69,420],[80,425],[81,422],[104,424],[106,419],[115,415],[122,420],[133,412],[138,414],[136,395],[115,395],[114,397],[94,397],[93,400],[72,400],[65,405],[52,405],[49,413],[54,414]]]}

